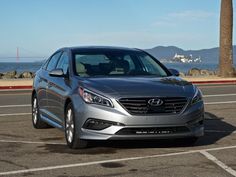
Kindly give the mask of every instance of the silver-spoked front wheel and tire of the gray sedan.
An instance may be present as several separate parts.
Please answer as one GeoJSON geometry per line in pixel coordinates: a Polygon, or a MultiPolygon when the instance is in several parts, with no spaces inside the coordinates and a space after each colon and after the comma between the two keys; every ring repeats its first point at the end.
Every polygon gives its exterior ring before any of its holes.
{"type": "Polygon", "coordinates": [[[72,103],[69,103],[65,111],[65,138],[66,143],[71,149],[86,148],[88,141],[81,140],[77,132],[74,109],[72,103]]]}

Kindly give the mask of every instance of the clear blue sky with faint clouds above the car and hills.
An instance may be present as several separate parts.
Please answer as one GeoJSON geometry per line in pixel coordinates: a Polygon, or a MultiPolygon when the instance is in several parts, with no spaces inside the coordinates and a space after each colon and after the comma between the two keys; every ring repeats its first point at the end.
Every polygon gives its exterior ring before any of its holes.
{"type": "Polygon", "coordinates": [[[220,0],[0,0],[0,62],[17,47],[21,61],[66,46],[213,48],[219,14],[220,0]]]}

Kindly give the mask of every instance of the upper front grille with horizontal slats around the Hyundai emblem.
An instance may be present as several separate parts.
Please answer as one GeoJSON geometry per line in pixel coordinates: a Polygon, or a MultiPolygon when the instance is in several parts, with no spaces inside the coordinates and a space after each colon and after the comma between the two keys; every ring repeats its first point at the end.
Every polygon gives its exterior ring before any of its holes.
{"type": "Polygon", "coordinates": [[[119,103],[131,114],[178,114],[187,104],[185,97],[159,97],[163,104],[151,106],[148,101],[153,98],[121,98],[119,103]]]}

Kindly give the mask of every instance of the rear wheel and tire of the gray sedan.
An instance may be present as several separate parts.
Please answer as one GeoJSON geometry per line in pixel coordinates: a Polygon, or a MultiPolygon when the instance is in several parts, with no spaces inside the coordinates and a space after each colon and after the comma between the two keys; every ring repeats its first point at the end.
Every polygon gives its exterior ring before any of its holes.
{"type": "Polygon", "coordinates": [[[38,99],[37,96],[33,96],[32,100],[32,124],[36,129],[50,128],[51,126],[43,122],[39,113],[38,99]]]}

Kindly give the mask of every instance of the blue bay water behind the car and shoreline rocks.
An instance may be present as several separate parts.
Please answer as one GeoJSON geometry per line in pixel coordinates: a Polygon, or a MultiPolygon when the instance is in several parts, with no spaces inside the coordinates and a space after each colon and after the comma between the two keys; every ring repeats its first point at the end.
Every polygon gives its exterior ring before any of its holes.
{"type": "MultiPolygon", "coordinates": [[[[177,69],[180,72],[187,73],[191,68],[208,69],[215,71],[218,64],[214,63],[163,63],[167,68],[177,69]]],[[[18,73],[23,71],[36,72],[42,65],[42,62],[0,62],[0,73],[16,70],[18,73]]],[[[236,65],[235,65],[236,67],[236,65]]]]}

